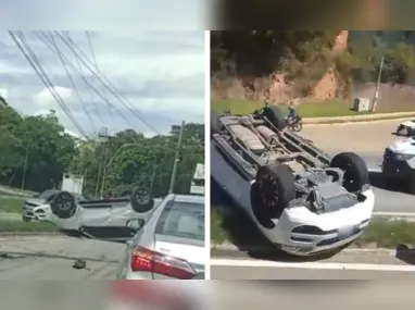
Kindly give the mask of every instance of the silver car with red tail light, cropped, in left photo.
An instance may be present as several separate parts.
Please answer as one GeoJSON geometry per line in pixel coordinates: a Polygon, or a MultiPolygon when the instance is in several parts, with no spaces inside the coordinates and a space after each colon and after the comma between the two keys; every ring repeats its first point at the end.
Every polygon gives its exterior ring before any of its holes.
{"type": "Polygon", "coordinates": [[[127,241],[117,278],[204,278],[204,197],[168,195],[148,221],[129,225],[137,234],[127,241]]]}

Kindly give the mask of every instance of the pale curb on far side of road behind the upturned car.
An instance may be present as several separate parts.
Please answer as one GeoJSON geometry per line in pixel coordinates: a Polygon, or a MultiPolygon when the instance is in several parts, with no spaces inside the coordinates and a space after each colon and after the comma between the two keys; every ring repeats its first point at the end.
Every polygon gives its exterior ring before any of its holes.
{"type": "Polygon", "coordinates": [[[380,122],[389,120],[405,120],[414,117],[415,112],[398,112],[398,113],[379,113],[379,114],[365,114],[354,116],[334,116],[334,117],[304,117],[304,125],[331,125],[344,123],[365,123],[365,122],[380,122]]]}

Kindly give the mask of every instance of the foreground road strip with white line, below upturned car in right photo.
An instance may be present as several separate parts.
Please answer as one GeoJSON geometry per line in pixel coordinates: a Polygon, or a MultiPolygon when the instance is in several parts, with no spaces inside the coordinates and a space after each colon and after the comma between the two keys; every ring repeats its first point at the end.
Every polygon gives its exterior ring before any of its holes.
{"type": "Polygon", "coordinates": [[[344,250],[318,261],[303,258],[251,259],[248,255],[212,253],[214,280],[415,280],[415,251],[344,250]]]}

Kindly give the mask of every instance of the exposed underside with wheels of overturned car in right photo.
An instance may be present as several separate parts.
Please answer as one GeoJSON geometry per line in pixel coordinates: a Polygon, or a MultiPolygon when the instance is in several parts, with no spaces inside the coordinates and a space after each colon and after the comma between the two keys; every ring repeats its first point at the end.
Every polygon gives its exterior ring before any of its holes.
{"type": "Polygon", "coordinates": [[[312,141],[281,128],[276,117],[274,122],[269,119],[225,114],[218,117],[219,126],[212,135],[228,162],[254,182],[253,208],[265,207],[273,210],[269,216],[278,218],[291,204],[323,213],[364,199],[360,193],[367,186],[368,174],[359,156],[343,152],[331,159],[312,141]]]}

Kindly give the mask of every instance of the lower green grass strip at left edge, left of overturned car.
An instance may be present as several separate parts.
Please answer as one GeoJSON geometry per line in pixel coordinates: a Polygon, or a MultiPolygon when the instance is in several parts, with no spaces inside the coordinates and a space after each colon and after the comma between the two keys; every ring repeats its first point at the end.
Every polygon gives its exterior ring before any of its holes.
{"type": "Polygon", "coordinates": [[[0,220],[1,233],[58,233],[59,228],[48,222],[23,222],[0,220]]]}

